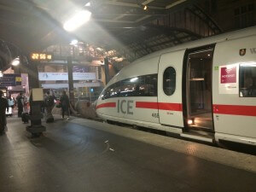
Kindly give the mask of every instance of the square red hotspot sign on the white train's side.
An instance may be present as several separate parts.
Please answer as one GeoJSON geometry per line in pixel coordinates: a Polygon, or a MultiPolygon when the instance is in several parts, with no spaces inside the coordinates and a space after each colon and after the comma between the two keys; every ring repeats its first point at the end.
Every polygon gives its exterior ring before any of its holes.
{"type": "Polygon", "coordinates": [[[236,67],[222,67],[220,71],[220,83],[236,83],[236,67]]]}

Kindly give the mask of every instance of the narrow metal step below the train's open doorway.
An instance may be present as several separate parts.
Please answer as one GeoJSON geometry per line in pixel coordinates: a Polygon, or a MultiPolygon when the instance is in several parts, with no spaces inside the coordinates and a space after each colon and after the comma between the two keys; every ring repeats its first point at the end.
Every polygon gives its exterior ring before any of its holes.
{"type": "Polygon", "coordinates": [[[206,143],[213,143],[214,141],[214,137],[212,134],[201,134],[201,131],[183,132],[180,134],[180,136],[206,143]]]}

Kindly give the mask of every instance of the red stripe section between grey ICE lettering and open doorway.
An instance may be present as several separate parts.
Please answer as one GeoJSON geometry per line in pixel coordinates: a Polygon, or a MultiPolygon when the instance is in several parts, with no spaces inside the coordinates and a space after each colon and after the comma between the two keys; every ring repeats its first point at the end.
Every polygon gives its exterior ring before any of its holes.
{"type": "Polygon", "coordinates": [[[136,102],[136,108],[153,108],[160,110],[183,111],[181,103],[169,102],[136,102]]]}

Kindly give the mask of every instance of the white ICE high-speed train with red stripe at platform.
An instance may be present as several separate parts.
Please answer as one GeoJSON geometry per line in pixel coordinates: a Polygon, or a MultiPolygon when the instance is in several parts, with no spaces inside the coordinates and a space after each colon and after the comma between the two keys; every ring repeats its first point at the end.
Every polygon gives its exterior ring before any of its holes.
{"type": "Polygon", "coordinates": [[[256,26],[134,61],[107,84],[96,113],[205,142],[256,145],[256,26]]]}

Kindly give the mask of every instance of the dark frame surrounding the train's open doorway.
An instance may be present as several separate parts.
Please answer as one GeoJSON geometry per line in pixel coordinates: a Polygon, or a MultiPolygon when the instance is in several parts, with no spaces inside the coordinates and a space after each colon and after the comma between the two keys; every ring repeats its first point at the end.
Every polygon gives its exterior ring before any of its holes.
{"type": "MultiPolygon", "coordinates": [[[[188,101],[187,101],[187,89],[188,89],[188,59],[189,59],[189,55],[192,53],[196,53],[196,52],[201,52],[203,50],[207,50],[207,49],[212,49],[212,67],[213,67],[213,59],[214,59],[214,51],[215,51],[215,45],[216,44],[208,44],[205,46],[201,46],[201,47],[195,47],[192,49],[186,49],[184,57],[183,57],[183,79],[182,79],[182,101],[183,101],[183,125],[184,125],[184,131],[189,131],[189,126],[188,126],[188,122],[187,122],[187,117],[188,117],[188,101]]],[[[212,75],[212,69],[211,69],[211,75],[212,75]]],[[[211,77],[212,79],[212,77],[211,77]]],[[[213,79],[212,79],[212,84],[213,84],[213,79]]],[[[212,86],[211,84],[211,86],[212,86]]],[[[213,88],[213,86],[212,86],[213,88]]],[[[211,100],[212,100],[212,93],[211,93],[211,100]]],[[[212,101],[211,101],[212,102],[212,101]]],[[[213,103],[211,103],[213,106],[213,103]]],[[[212,129],[202,129],[202,131],[208,131],[208,132],[214,132],[214,119],[213,119],[213,107],[212,107],[212,129]]]]}

